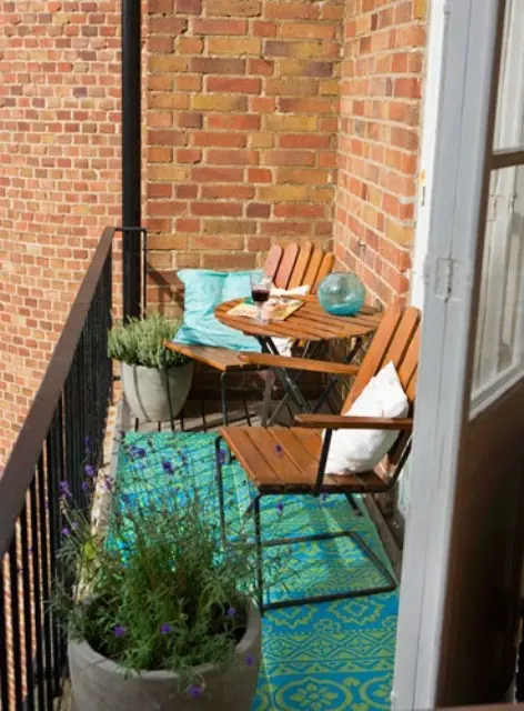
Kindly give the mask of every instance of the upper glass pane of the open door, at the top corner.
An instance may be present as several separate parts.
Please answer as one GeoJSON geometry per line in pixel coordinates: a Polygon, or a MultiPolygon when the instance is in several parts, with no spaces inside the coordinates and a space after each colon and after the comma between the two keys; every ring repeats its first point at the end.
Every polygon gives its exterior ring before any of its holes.
{"type": "Polygon", "coordinates": [[[507,0],[498,78],[494,149],[524,147],[524,7],[507,0]]]}

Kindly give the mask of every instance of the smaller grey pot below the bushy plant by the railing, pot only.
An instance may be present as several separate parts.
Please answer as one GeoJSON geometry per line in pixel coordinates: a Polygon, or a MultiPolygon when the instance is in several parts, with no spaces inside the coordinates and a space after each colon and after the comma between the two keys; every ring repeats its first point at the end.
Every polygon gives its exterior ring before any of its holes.
{"type": "MultiPolygon", "coordinates": [[[[193,379],[193,361],[168,369],[173,417],[183,408],[193,379]]],[[[122,363],[122,385],[125,400],[135,418],[148,422],[169,420],[165,372],[144,365],[122,363]]]]}

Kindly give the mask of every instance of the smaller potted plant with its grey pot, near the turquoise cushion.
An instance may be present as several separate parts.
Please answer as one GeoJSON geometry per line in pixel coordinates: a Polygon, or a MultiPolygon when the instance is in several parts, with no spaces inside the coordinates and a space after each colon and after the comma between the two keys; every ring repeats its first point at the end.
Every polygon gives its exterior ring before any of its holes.
{"type": "Polygon", "coordinates": [[[163,347],[179,328],[180,322],[153,313],[115,326],[109,333],[109,357],[122,363],[124,398],[139,420],[169,420],[168,394],[173,417],[184,405],[193,378],[193,361],[163,347]]]}

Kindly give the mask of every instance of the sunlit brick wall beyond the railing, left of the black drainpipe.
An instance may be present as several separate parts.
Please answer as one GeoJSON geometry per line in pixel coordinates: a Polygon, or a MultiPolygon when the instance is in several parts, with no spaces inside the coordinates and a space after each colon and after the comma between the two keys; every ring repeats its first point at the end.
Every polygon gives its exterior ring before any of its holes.
{"type": "Polygon", "coordinates": [[[0,0],[0,472],[105,224],[120,3],[0,0]]]}

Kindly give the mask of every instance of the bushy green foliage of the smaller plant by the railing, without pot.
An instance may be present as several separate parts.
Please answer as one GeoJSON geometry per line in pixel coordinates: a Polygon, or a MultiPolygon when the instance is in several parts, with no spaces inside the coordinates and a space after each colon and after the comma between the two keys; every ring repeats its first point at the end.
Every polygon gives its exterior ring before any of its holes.
{"type": "Polygon", "coordinates": [[[180,321],[168,320],[162,313],[152,313],[144,319],[130,319],[114,326],[109,332],[108,354],[129,365],[164,368],[184,365],[189,359],[165,349],[163,341],[172,341],[180,321]]]}

